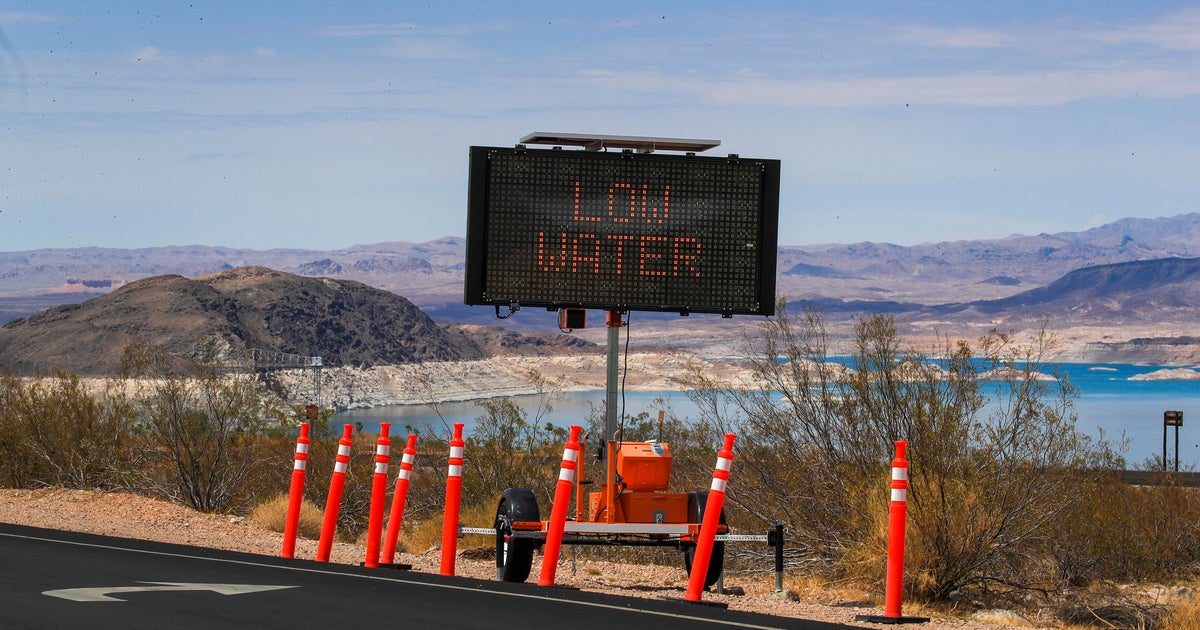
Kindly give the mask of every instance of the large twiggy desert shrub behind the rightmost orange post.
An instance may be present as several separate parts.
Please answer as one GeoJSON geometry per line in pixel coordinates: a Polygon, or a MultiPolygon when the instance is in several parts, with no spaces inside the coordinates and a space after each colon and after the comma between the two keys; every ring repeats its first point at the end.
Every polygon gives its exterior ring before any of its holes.
{"type": "Polygon", "coordinates": [[[1075,505],[1081,475],[1118,461],[1075,430],[1069,382],[1038,376],[1051,341],[992,331],[925,353],[890,317],[870,316],[838,353],[820,313],[797,318],[781,302],[748,338],[755,386],[696,374],[692,396],[701,422],[738,434],[727,499],[763,523],[784,520],[799,563],[882,582],[880,491],[894,442],[907,440],[908,588],[934,600],[1045,588],[1052,523],[1075,505]]]}

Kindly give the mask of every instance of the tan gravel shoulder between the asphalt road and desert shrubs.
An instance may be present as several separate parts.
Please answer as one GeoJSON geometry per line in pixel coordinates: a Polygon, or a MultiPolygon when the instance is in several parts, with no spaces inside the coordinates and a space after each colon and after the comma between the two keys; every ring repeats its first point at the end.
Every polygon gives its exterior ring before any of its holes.
{"type": "MultiPolygon", "coordinates": [[[[0,522],[82,532],[108,536],[154,540],[192,545],[198,547],[278,556],[283,536],[257,523],[242,518],[200,514],[163,500],[128,493],[108,493],[76,490],[0,490],[0,522]]],[[[496,566],[491,559],[473,558],[467,552],[469,544],[460,546],[455,563],[460,576],[492,580],[496,566]]],[[[316,556],[317,541],[300,539],[296,542],[298,558],[316,556]]],[[[334,545],[330,562],[335,564],[359,564],[366,551],[358,545],[338,542],[334,545]]],[[[430,550],[422,554],[400,553],[397,563],[413,565],[414,571],[436,574],[440,552],[430,550]]],[[[540,556],[534,558],[538,575],[540,556]]],[[[559,586],[583,590],[628,596],[683,596],[686,575],[682,568],[658,565],[632,565],[598,560],[578,560],[565,564],[556,574],[559,586]]],[[[858,628],[886,628],[881,624],[856,622],[858,614],[881,614],[878,608],[863,607],[860,602],[840,601],[828,593],[785,594],[774,592],[773,576],[727,575],[726,594],[704,593],[704,601],[727,604],[731,610],[762,612],[780,617],[835,622],[858,628]],[[733,594],[738,593],[738,594],[733,594]]],[[[905,610],[906,614],[929,614],[905,610]]],[[[931,623],[919,625],[930,630],[1002,630],[1006,628],[1031,628],[1032,624],[1004,625],[988,619],[1020,623],[1012,613],[983,612],[974,619],[943,619],[935,617],[931,623]]]]}

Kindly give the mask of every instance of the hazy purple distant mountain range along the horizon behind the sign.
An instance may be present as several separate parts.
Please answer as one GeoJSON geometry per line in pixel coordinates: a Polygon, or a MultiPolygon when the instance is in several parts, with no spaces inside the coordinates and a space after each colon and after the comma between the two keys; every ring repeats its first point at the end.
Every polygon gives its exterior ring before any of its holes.
{"type": "MultiPolygon", "coordinates": [[[[356,281],[402,295],[442,324],[502,324],[526,331],[557,328],[547,313],[522,312],[499,323],[491,308],[463,306],[464,252],[466,242],[458,238],[336,251],[182,246],[7,252],[0,253],[0,323],[119,294],[148,277],[180,276],[178,283],[263,266],[301,277],[356,281]]],[[[1021,329],[1043,320],[1075,346],[1116,343],[1195,332],[1200,322],[1198,258],[1200,214],[1193,212],[1126,218],[1078,233],[911,247],[872,242],[781,246],[778,292],[792,304],[830,313],[833,320],[893,313],[905,332],[918,336],[934,330],[974,335],[984,326],[1021,329]]],[[[638,319],[643,331],[661,329],[654,336],[656,343],[678,347],[697,342],[692,330],[708,334],[716,328],[695,316],[643,313],[638,319]]],[[[295,341],[288,347],[300,354],[312,352],[295,341]]],[[[320,352],[337,355],[332,348],[320,352]]],[[[382,359],[380,354],[354,360],[382,359]]]]}

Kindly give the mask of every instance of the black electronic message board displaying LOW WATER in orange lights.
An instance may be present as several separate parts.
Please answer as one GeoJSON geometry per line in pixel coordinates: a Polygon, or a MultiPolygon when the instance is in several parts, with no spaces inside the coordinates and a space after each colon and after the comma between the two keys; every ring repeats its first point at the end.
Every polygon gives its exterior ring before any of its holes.
{"type": "Polygon", "coordinates": [[[773,314],[779,161],[472,146],[468,305],[773,314]]]}

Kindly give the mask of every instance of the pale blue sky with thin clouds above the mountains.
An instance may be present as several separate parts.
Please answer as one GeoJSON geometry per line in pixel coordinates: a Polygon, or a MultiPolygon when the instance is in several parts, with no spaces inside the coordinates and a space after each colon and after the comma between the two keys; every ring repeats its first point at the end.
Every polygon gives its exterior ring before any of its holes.
{"type": "Polygon", "coordinates": [[[1200,4],[8,0],[0,251],[466,235],[472,145],[719,139],[781,245],[1200,210],[1200,4]]]}

